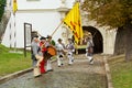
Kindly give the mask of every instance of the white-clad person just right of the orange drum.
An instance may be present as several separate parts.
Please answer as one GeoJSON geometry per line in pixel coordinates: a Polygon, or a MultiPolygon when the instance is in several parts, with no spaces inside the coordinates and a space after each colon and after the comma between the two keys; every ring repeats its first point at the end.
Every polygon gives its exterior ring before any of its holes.
{"type": "Polygon", "coordinates": [[[64,59],[64,48],[65,45],[62,43],[62,38],[58,38],[58,43],[56,44],[56,51],[57,51],[57,65],[58,67],[63,66],[63,59],[64,59]]]}

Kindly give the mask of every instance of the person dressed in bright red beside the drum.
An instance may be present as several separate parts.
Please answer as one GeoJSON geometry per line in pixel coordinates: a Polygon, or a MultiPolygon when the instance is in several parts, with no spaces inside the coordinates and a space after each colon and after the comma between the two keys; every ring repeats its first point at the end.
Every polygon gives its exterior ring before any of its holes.
{"type": "Polygon", "coordinates": [[[44,53],[47,51],[46,47],[45,47],[46,38],[42,36],[40,40],[41,40],[41,42],[40,42],[40,47],[41,47],[41,51],[42,51],[42,53],[43,53],[43,58],[44,58],[44,59],[41,62],[40,69],[41,69],[41,74],[44,74],[44,73],[46,73],[46,69],[45,69],[46,59],[45,59],[45,57],[44,57],[44,53]]]}

